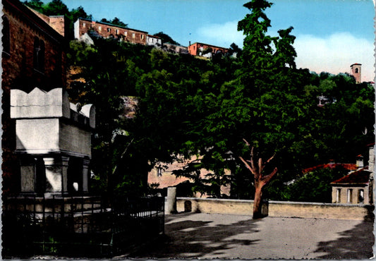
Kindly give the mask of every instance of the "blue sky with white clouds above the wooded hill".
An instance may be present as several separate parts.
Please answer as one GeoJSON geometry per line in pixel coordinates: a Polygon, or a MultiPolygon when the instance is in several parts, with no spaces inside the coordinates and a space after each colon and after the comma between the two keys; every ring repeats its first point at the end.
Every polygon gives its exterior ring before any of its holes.
{"type": "MultiPolygon", "coordinates": [[[[238,20],[248,9],[240,0],[63,0],[68,8],[83,6],[95,20],[120,18],[129,28],[150,34],[163,31],[176,42],[243,46],[238,20]]],[[[272,1],[273,2],[273,1],[272,1]]],[[[293,26],[299,68],[320,73],[350,72],[362,63],[362,80],[374,80],[372,0],[274,0],[267,16],[270,35],[293,26]]]]}

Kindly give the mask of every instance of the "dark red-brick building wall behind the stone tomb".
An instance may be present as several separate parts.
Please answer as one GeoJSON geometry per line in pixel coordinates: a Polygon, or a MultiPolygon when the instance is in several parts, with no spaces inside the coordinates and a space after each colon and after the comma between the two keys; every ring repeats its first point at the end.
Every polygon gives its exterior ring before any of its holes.
{"type": "Polygon", "coordinates": [[[66,42],[47,23],[17,0],[3,3],[2,82],[3,135],[3,191],[17,190],[19,162],[16,149],[16,123],[10,119],[10,90],[18,88],[29,92],[34,87],[51,90],[66,85],[66,42]],[[35,68],[35,38],[44,43],[44,64],[35,68]]]}

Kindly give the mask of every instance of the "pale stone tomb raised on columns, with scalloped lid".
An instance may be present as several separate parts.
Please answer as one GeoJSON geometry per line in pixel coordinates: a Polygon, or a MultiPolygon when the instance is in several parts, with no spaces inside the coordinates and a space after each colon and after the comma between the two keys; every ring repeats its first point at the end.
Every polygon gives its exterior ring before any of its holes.
{"type": "Polygon", "coordinates": [[[16,120],[20,192],[80,195],[88,192],[95,107],[72,104],[63,88],[11,90],[16,120]]]}

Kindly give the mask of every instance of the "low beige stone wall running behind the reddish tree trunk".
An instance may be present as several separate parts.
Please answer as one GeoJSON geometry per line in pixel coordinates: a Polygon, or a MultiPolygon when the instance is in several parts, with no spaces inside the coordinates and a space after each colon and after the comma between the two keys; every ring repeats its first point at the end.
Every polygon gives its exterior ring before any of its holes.
{"type": "MultiPolygon", "coordinates": [[[[269,217],[301,217],[320,219],[372,220],[374,207],[312,202],[269,201],[263,211],[269,217]]],[[[253,200],[223,200],[208,198],[177,198],[178,212],[245,214],[252,216],[253,200]]]]}

